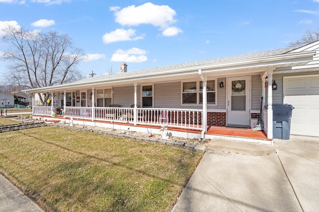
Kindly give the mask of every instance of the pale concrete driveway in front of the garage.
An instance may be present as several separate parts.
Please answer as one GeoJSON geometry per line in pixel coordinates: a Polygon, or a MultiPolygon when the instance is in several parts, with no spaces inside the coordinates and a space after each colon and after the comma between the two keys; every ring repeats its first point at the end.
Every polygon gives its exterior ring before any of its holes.
{"type": "Polygon", "coordinates": [[[207,151],[172,212],[318,211],[319,138],[291,136],[274,148],[263,156],[207,151]]]}

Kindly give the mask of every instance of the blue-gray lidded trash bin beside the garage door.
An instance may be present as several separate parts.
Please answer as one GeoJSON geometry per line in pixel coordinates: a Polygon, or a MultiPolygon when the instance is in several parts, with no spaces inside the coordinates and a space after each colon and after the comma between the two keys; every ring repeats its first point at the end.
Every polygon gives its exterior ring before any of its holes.
{"type": "Polygon", "coordinates": [[[289,140],[293,109],[295,108],[289,104],[273,104],[274,139],[289,140]]]}

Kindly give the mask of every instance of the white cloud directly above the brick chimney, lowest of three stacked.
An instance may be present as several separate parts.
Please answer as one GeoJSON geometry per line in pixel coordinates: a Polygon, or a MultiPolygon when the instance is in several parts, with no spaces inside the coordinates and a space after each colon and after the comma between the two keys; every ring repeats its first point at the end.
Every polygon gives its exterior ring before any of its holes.
{"type": "Polygon", "coordinates": [[[118,49],[111,58],[111,62],[127,62],[127,63],[142,63],[146,62],[148,58],[145,56],[146,50],[139,48],[132,48],[129,50],[118,49]]]}

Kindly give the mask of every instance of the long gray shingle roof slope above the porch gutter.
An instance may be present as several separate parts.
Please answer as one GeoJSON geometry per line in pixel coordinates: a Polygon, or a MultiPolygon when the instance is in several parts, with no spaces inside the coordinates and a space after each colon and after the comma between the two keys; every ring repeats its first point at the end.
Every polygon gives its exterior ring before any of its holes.
{"type": "MultiPolygon", "coordinates": [[[[298,47],[288,47],[288,48],[284,48],[284,49],[270,50],[270,51],[250,53],[250,54],[244,54],[244,55],[236,55],[236,56],[231,56],[231,57],[209,59],[209,60],[203,60],[203,61],[194,61],[194,62],[188,62],[188,63],[182,63],[182,64],[176,64],[176,65],[170,65],[170,66],[144,69],[144,70],[139,70],[139,71],[128,71],[128,72],[117,73],[117,74],[112,74],[112,75],[89,77],[89,78],[81,79],[81,80],[73,82],[73,83],[90,82],[90,81],[93,82],[93,81],[98,81],[98,80],[103,80],[103,79],[104,80],[112,80],[112,78],[118,77],[119,74],[121,74],[121,76],[123,76],[123,77],[129,78],[130,76],[134,76],[137,74],[152,73],[152,72],[155,73],[155,72],[160,72],[160,71],[169,71],[169,70],[182,69],[182,68],[191,68],[191,67],[196,67],[196,66],[222,64],[222,63],[229,63],[229,62],[244,61],[244,60],[248,60],[248,59],[264,58],[264,57],[269,57],[269,56],[287,54],[290,51],[297,49],[297,48],[298,47]]],[[[72,83],[70,83],[70,84],[72,84],[72,83]]]]}

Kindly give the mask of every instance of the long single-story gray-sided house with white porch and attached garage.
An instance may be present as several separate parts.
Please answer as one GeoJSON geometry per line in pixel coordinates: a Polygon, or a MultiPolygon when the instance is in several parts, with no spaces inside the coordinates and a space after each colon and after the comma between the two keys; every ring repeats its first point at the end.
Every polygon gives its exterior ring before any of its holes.
{"type": "MultiPolygon", "coordinates": [[[[126,72],[122,64],[124,71],[118,74],[25,91],[33,96],[51,93],[54,110],[64,106],[65,117],[95,126],[97,121],[165,123],[202,129],[202,138],[207,126],[249,127],[259,118],[262,104],[263,130],[271,140],[272,104],[287,103],[295,107],[291,134],[319,136],[318,53],[319,41],[141,71],[126,72]]],[[[33,114],[49,116],[51,107],[34,107],[33,114]]]]}

